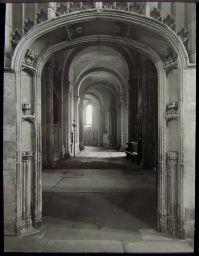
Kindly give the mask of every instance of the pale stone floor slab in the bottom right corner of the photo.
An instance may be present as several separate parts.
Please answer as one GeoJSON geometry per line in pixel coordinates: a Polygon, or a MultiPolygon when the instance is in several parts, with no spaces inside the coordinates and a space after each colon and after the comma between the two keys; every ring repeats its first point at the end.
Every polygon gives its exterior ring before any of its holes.
{"type": "Polygon", "coordinates": [[[145,252],[145,253],[161,253],[161,252],[193,252],[193,249],[186,241],[169,240],[169,241],[138,241],[127,242],[122,241],[124,252],[145,252]]]}

